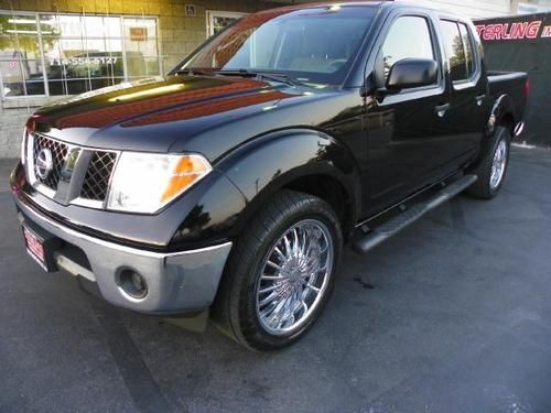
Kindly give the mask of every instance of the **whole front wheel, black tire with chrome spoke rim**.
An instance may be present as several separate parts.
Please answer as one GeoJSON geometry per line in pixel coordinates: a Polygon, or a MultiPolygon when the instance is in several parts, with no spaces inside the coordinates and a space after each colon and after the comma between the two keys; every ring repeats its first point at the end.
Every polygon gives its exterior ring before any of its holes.
{"type": "Polygon", "coordinates": [[[321,198],[281,191],[253,218],[226,267],[213,316],[255,350],[277,350],[303,337],[334,286],[343,236],[321,198]]]}

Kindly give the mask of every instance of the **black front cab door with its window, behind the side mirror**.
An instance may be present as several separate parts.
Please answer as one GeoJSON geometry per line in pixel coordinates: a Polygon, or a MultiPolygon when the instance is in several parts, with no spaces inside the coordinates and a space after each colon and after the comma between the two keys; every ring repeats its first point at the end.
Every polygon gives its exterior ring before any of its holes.
{"type": "Polygon", "coordinates": [[[442,56],[431,18],[397,14],[376,44],[372,81],[377,91],[367,99],[369,194],[366,215],[376,214],[436,178],[446,149],[439,128],[439,110],[450,106],[442,56]],[[392,66],[404,58],[433,59],[440,66],[433,85],[381,93],[392,66]],[[444,153],[443,153],[444,152],[444,153]]]}

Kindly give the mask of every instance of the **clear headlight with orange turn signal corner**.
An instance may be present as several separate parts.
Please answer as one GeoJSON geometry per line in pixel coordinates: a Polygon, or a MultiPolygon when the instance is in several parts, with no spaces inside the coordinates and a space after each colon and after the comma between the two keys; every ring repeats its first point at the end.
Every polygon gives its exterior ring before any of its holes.
{"type": "Polygon", "coordinates": [[[210,164],[201,155],[122,152],[107,208],[154,214],[210,171],[210,164]]]}

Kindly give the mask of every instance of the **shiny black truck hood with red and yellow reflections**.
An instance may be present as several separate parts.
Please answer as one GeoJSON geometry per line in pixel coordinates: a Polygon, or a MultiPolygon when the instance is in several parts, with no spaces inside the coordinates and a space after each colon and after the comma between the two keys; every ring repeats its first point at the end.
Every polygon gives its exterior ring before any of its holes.
{"type": "Polygon", "coordinates": [[[325,122],[327,110],[311,106],[337,95],[241,77],[168,76],[69,97],[33,118],[37,132],[77,145],[190,151],[213,161],[266,131],[325,122]]]}

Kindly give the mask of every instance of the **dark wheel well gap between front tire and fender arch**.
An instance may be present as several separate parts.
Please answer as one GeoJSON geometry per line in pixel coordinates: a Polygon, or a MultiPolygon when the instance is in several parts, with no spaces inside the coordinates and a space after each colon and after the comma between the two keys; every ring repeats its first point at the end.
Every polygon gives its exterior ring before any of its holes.
{"type": "Polygon", "coordinates": [[[310,194],[329,204],[341,220],[345,240],[348,238],[354,226],[352,199],[336,178],[328,175],[307,175],[288,183],[283,188],[310,194]]]}

